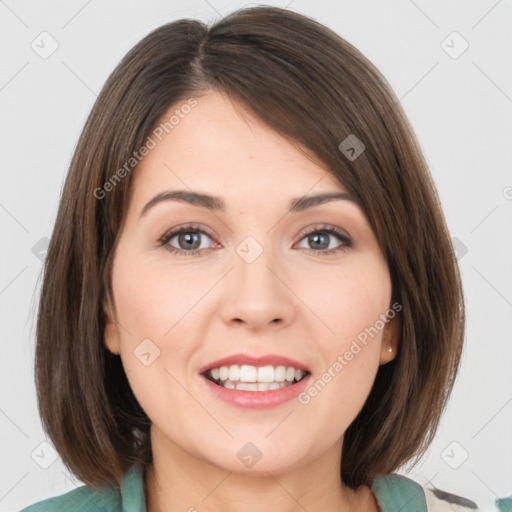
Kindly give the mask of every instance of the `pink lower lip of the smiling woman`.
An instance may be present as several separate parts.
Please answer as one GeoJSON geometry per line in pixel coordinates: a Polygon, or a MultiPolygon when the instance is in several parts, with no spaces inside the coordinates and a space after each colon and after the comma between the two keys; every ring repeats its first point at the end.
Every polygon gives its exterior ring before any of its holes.
{"type": "Polygon", "coordinates": [[[227,389],[218,386],[204,375],[200,376],[205,382],[207,388],[214,396],[236,407],[244,409],[266,409],[283,404],[288,400],[295,398],[308,386],[311,374],[304,377],[299,382],[280,389],[269,391],[241,391],[238,389],[227,389]]]}

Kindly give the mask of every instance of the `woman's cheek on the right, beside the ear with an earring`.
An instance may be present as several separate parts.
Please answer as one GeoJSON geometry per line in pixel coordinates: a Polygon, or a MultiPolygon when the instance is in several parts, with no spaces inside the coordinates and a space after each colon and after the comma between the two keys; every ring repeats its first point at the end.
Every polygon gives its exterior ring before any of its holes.
{"type": "Polygon", "coordinates": [[[316,313],[315,337],[322,368],[302,395],[308,414],[327,426],[324,435],[344,432],[363,407],[379,368],[383,323],[391,298],[387,267],[376,260],[318,279],[307,304],[316,313]]]}

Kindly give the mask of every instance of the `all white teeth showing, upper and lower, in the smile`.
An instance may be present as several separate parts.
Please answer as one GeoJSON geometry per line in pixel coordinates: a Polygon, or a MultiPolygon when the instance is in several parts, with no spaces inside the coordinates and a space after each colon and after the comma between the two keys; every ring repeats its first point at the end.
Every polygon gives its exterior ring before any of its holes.
{"type": "Polygon", "coordinates": [[[292,366],[251,366],[251,365],[231,365],[214,368],[207,372],[218,384],[226,388],[235,389],[236,383],[243,384],[242,387],[236,385],[236,389],[247,391],[267,391],[268,389],[278,389],[283,385],[299,381],[307,373],[303,370],[296,370],[292,366]],[[250,385],[249,387],[247,387],[250,385]],[[277,386],[277,387],[276,387],[277,386]]]}

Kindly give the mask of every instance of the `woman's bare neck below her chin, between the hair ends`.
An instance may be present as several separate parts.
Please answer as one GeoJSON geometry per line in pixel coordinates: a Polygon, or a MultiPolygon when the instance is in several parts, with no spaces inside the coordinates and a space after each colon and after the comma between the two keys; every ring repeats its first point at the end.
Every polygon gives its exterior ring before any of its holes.
{"type": "Polygon", "coordinates": [[[158,435],[152,434],[152,446],[153,464],[144,475],[147,512],[379,510],[368,487],[342,484],[341,441],[312,463],[258,475],[224,470],[168,440],[161,445],[158,435]]]}

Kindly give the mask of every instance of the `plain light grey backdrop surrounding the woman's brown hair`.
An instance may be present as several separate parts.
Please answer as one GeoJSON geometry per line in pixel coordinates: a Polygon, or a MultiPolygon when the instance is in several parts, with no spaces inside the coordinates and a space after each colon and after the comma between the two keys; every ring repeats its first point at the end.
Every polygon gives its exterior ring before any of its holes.
{"type": "MultiPolygon", "coordinates": [[[[359,48],[419,137],[457,238],[468,321],[461,373],[435,442],[400,472],[495,510],[497,496],[512,494],[512,1],[263,3],[311,15],[359,48]],[[464,40],[469,47],[458,55],[464,40]]],[[[254,4],[0,0],[1,511],[82,484],[41,445],[33,326],[41,239],[51,235],[96,95],[152,29],[182,17],[212,21],[244,5],[254,4]],[[52,39],[58,48],[42,58],[52,39]]]]}

